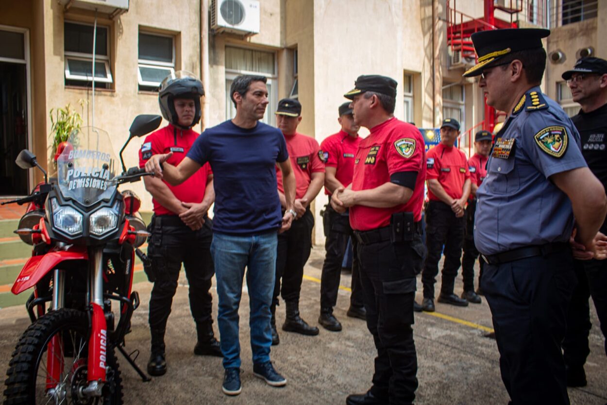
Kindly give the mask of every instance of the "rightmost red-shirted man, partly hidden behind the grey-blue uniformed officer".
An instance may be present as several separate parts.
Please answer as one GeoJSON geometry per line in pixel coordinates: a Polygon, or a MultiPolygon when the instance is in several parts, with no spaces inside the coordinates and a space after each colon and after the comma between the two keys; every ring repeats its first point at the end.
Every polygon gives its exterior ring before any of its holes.
{"type": "Polygon", "coordinates": [[[474,212],[476,211],[476,190],[487,177],[487,160],[491,151],[493,135],[489,131],[478,131],[474,135],[475,154],[468,159],[470,170],[470,197],[466,207],[466,233],[464,236],[464,256],[461,259],[461,275],[464,279],[464,293],[462,298],[475,304],[481,303],[478,294],[481,292],[481,277],[483,276],[484,260],[479,260],[480,271],[478,273],[478,291],[474,292],[474,262],[479,256],[474,245],[474,212]]]}

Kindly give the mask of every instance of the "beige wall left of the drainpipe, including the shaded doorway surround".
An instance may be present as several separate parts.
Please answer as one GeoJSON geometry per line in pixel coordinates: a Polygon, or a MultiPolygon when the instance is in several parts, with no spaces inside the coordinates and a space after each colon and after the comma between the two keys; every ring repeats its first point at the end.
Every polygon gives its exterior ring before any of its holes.
{"type": "MultiPolygon", "coordinates": [[[[110,134],[117,155],[136,115],[160,114],[158,94],[138,90],[139,30],[174,35],[175,70],[185,69],[200,76],[199,17],[198,0],[175,0],[171,7],[166,7],[163,0],[131,1],[129,11],[114,20],[98,13],[98,26],[109,28],[109,64],[114,83],[110,89],[95,91],[94,124],[110,134]]],[[[50,109],[70,103],[83,115],[85,126],[93,124],[91,90],[65,85],[64,21],[92,24],[95,14],[73,7],[66,11],[57,1],[2,1],[0,24],[29,29],[33,135],[30,148],[45,166],[49,164],[52,148],[50,109]],[[87,102],[82,110],[79,100],[87,102]]],[[[166,121],[161,125],[166,125],[166,121]]],[[[124,151],[127,168],[138,165],[141,143],[143,139],[135,139],[124,151]]],[[[41,179],[41,175],[34,173],[36,180],[41,179]]],[[[144,191],[143,182],[133,183],[131,188],[143,200],[143,209],[151,209],[151,196],[144,191]]]]}

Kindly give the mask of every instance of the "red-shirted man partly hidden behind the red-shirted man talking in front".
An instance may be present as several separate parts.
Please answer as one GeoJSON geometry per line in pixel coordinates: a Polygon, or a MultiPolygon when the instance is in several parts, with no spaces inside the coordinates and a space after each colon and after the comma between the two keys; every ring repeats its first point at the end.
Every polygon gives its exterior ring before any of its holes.
{"type": "MultiPolygon", "coordinates": [[[[337,304],[337,290],[341,277],[341,267],[347,249],[348,239],[352,235],[350,216],[348,211],[339,214],[331,208],[331,194],[339,187],[347,187],[352,182],[354,173],[354,156],[358,151],[361,138],[358,136],[360,128],[354,123],[350,102],[339,106],[339,124],[341,131],[325,138],[320,143],[322,160],[325,162],[325,194],[329,196],[329,204],[325,206],[322,216],[325,237],[325,262],[322,265],[320,276],[320,316],[318,323],[327,330],[338,332],[342,325],[333,316],[333,307],[337,304]]],[[[354,250],[356,240],[352,239],[354,250]]],[[[365,319],[365,307],[362,302],[362,288],[358,276],[358,258],[354,254],[352,260],[352,294],[350,308],[346,315],[365,319]]]]}

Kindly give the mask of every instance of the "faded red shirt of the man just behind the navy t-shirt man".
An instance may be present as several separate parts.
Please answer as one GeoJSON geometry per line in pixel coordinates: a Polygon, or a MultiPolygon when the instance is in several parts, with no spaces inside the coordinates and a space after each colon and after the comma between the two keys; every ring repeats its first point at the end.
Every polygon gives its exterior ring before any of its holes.
{"type": "MultiPolygon", "coordinates": [[[[300,199],[305,196],[308,186],[312,180],[312,173],[325,172],[325,165],[320,160],[320,146],[316,139],[308,135],[296,132],[294,135],[285,135],[287,141],[287,151],[291,159],[291,167],[295,172],[295,181],[297,191],[295,198],[300,199]]],[[[276,168],[276,180],[278,182],[278,191],[284,193],[282,186],[282,171],[276,168]]]]}

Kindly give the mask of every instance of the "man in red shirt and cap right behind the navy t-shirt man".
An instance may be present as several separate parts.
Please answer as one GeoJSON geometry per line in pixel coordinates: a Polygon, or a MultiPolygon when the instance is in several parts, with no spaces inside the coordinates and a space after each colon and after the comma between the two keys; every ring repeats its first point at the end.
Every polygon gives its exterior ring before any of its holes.
{"type": "MultiPolygon", "coordinates": [[[[278,254],[276,257],[276,282],[270,310],[272,312],[272,344],[279,344],[276,331],[276,305],[279,294],[287,304],[287,316],[282,330],[302,335],[318,335],[318,328],[308,325],[299,316],[299,293],[304,279],[304,265],[312,249],[312,228],[314,215],[310,203],[316,198],[325,182],[325,165],[320,160],[318,142],[307,135],[297,132],[302,120],[302,105],[291,98],[283,98],[276,109],[276,125],[285,135],[287,151],[295,173],[296,193],[293,223],[291,228],[278,236],[278,254]],[[282,285],[281,285],[282,281],[282,285]]],[[[280,205],[286,205],[282,186],[282,172],[276,171],[280,205]]]]}

